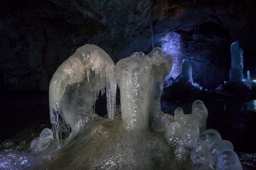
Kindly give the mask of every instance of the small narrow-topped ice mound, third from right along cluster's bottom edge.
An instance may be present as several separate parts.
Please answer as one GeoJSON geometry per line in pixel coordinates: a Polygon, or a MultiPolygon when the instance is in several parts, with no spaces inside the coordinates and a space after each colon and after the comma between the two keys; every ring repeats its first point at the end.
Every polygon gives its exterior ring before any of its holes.
{"type": "Polygon", "coordinates": [[[198,138],[191,152],[193,163],[208,164],[208,147],[204,140],[198,138]]]}

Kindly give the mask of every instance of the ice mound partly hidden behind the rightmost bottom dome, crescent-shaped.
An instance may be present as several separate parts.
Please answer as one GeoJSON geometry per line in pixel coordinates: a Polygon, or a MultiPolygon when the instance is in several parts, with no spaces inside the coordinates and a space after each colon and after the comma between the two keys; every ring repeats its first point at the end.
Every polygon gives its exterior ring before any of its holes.
{"type": "Polygon", "coordinates": [[[210,167],[215,168],[218,154],[224,149],[234,150],[233,144],[228,140],[219,140],[212,145],[212,147],[209,149],[210,167]]]}

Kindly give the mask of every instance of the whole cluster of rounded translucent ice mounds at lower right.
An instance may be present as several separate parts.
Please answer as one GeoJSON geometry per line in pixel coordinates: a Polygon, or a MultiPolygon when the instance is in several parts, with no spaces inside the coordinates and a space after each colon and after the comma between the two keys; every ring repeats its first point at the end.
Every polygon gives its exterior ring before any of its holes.
{"type": "Polygon", "coordinates": [[[184,114],[182,108],[175,110],[175,118],[168,125],[165,136],[173,148],[176,159],[190,160],[217,170],[242,170],[233,144],[222,140],[217,130],[206,129],[207,108],[197,100],[192,105],[192,114],[184,114]],[[225,158],[223,150],[230,150],[225,158]],[[236,163],[237,162],[237,163],[236,163]],[[233,169],[232,169],[233,170],[233,169]]]}

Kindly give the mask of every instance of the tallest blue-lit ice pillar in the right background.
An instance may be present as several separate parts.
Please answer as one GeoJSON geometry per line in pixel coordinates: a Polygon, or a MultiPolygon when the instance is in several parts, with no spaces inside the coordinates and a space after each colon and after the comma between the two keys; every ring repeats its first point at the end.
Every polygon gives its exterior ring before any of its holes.
{"type": "Polygon", "coordinates": [[[243,49],[239,48],[239,41],[233,42],[230,45],[231,52],[231,68],[230,68],[230,82],[243,81],[243,49]]]}

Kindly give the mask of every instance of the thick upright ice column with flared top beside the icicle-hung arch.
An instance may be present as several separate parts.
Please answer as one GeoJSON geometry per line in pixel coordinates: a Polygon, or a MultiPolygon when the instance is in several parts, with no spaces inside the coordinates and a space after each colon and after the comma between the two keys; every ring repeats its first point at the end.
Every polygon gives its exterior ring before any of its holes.
{"type": "Polygon", "coordinates": [[[148,55],[136,52],[116,63],[115,77],[120,86],[122,120],[127,129],[166,128],[171,116],[161,111],[160,96],[165,76],[172,69],[172,57],[163,57],[160,48],[148,55]],[[155,121],[155,122],[154,122],[155,121]]]}

